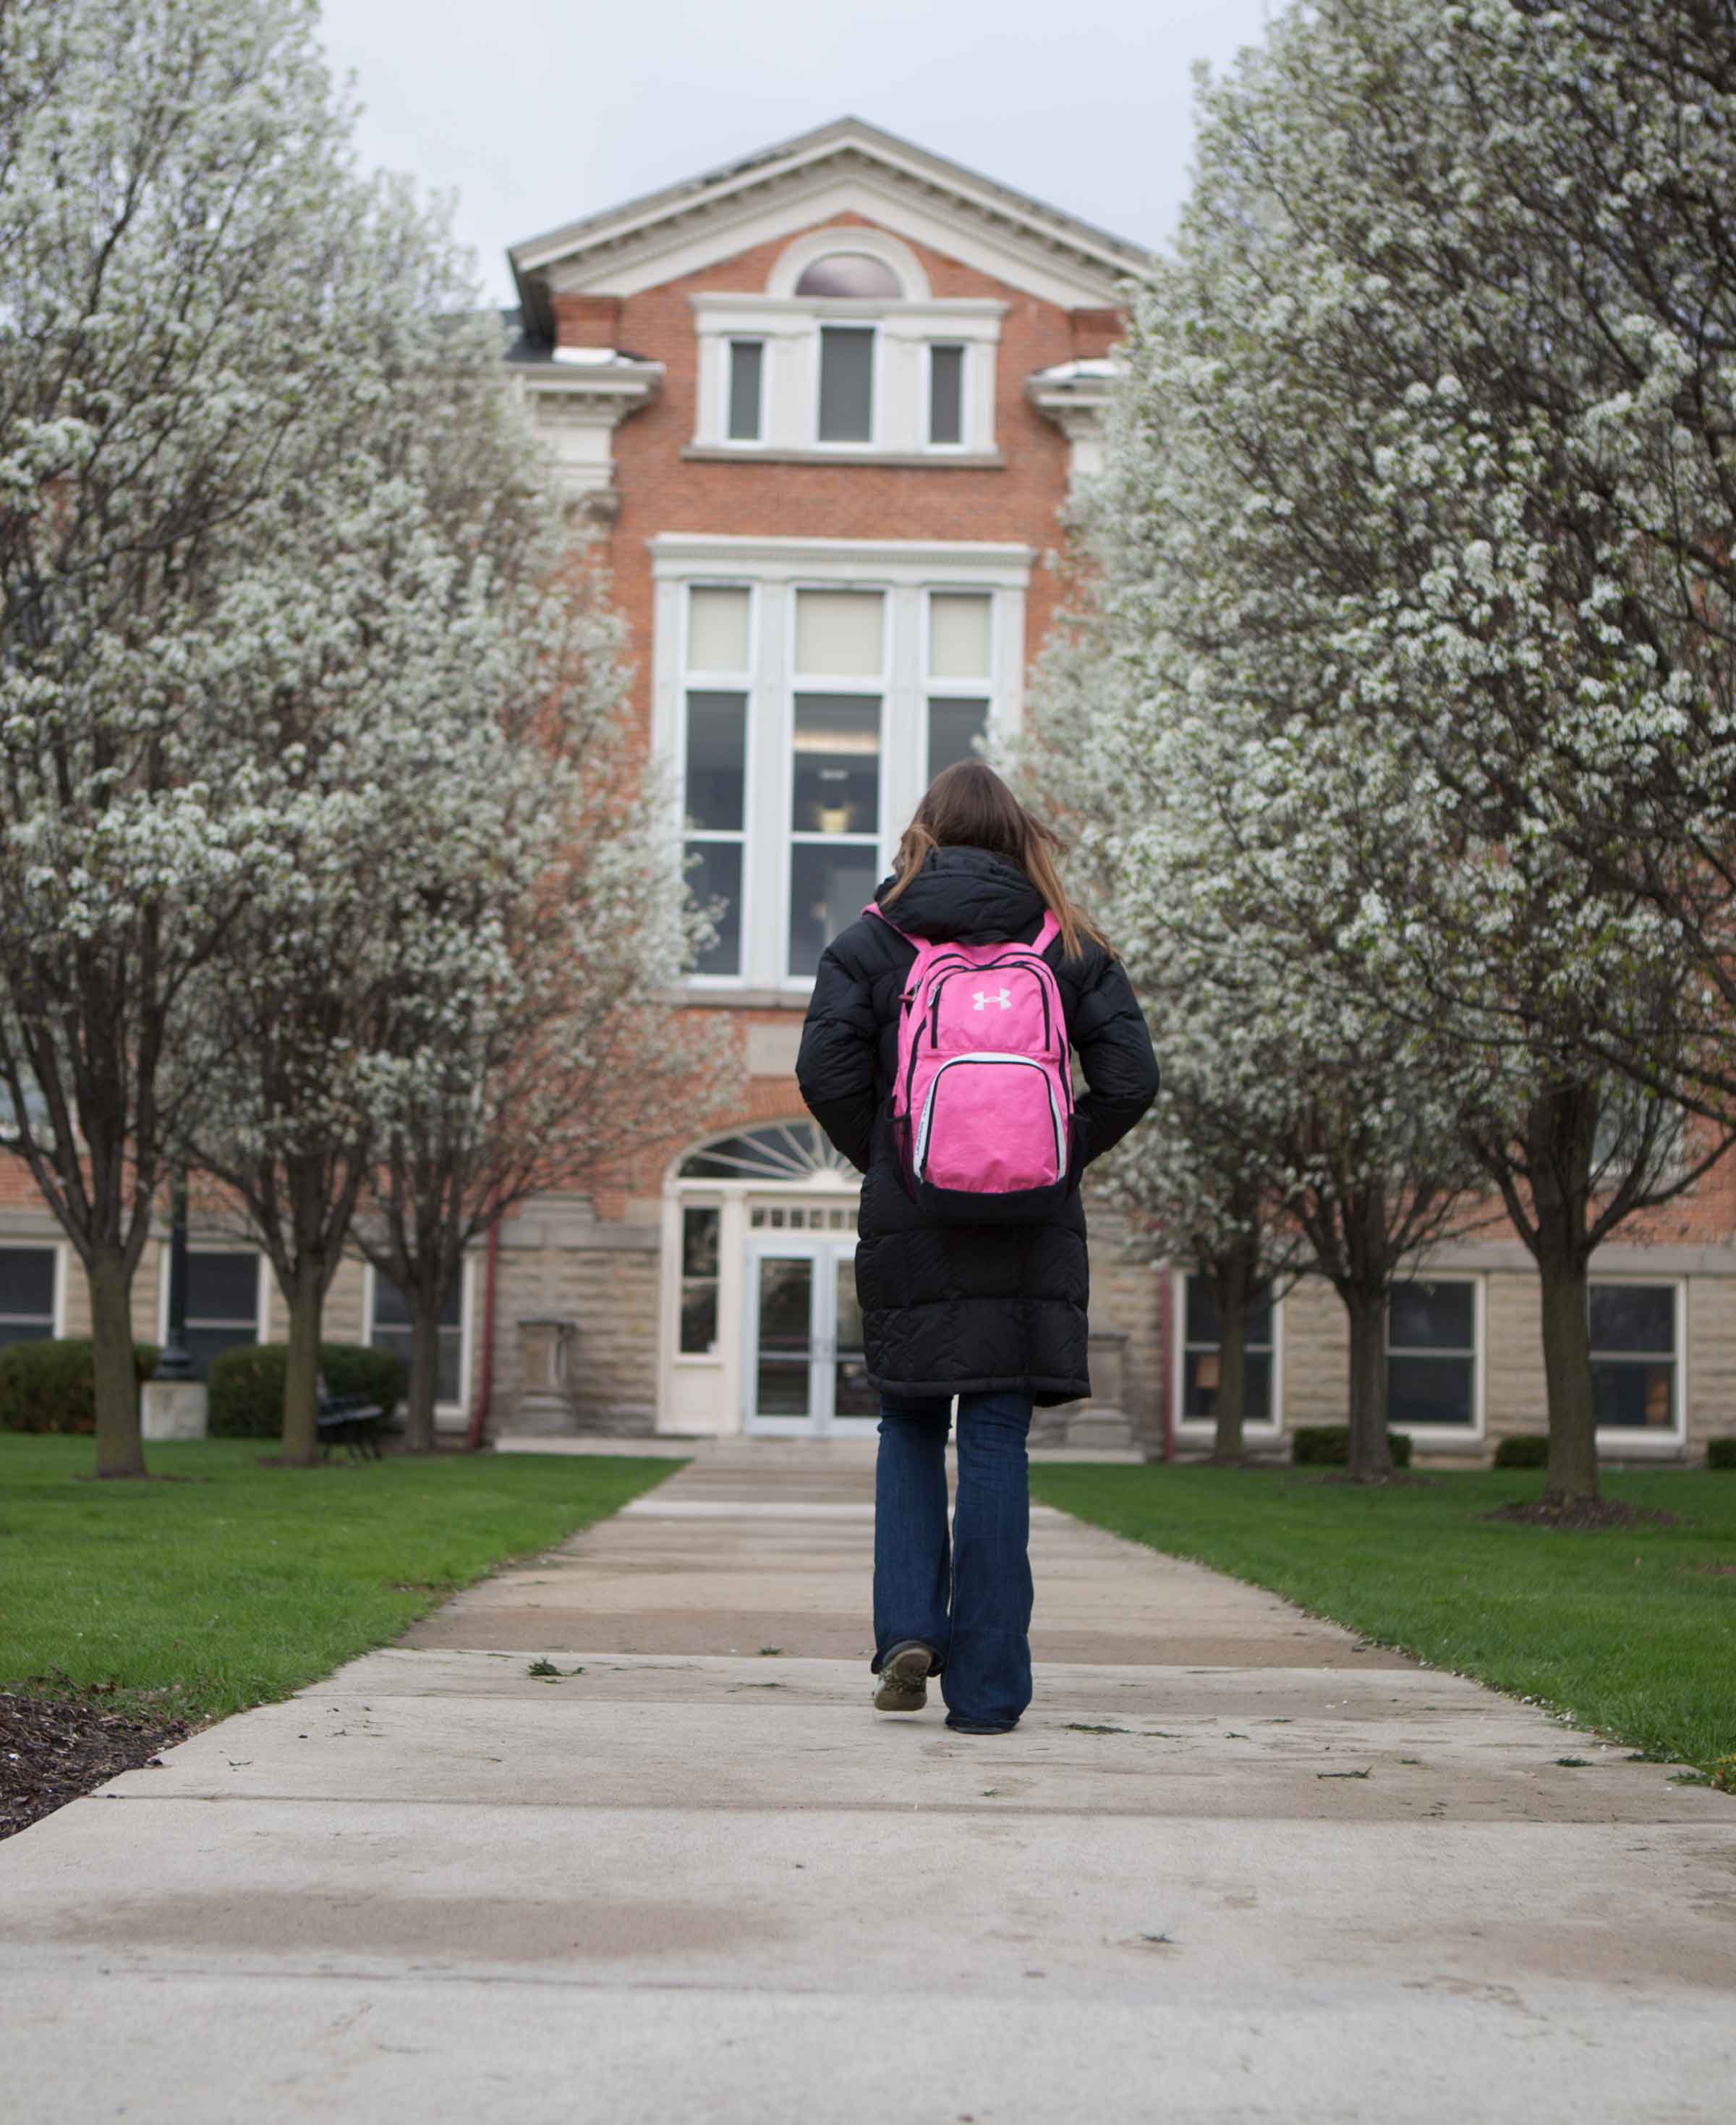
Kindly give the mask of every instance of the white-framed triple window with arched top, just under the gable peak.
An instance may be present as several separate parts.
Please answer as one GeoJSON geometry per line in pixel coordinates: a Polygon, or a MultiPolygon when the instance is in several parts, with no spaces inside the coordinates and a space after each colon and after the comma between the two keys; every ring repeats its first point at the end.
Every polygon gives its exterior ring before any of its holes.
{"type": "Polygon", "coordinates": [[[763,291],[703,289],[699,455],[999,463],[994,355],[1005,302],[935,295],[890,230],[797,236],[763,291]]]}

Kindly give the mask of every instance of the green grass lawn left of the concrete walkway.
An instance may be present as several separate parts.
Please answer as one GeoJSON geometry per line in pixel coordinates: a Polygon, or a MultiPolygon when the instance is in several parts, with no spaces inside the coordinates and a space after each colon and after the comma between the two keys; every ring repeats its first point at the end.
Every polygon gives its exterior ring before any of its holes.
{"type": "Polygon", "coordinates": [[[89,1439],[0,1432],[0,1689],[113,1683],[195,1719],[280,1698],[680,1466],[450,1454],[261,1468],[261,1451],[157,1445],[151,1470],[174,1481],[96,1483],[89,1439]]]}

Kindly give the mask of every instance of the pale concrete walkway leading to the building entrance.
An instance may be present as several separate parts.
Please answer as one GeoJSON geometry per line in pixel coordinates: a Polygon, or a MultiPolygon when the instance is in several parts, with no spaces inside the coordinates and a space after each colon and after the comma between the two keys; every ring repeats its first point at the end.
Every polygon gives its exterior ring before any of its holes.
{"type": "Polygon", "coordinates": [[[0,2116],[1732,2114],[1728,1798],[1043,1511],[1022,1728],[878,1719],[869,1556],[710,1454],[0,1844],[0,2116]]]}

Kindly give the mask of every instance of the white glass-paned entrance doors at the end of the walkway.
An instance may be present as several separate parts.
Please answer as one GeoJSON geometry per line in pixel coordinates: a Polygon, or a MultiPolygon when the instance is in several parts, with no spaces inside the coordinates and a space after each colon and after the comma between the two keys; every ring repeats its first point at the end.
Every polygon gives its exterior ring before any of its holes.
{"type": "Polygon", "coordinates": [[[742,1428],[784,1439],[871,1436],[880,1396],[863,1366],[856,1241],[748,1237],[742,1428]]]}

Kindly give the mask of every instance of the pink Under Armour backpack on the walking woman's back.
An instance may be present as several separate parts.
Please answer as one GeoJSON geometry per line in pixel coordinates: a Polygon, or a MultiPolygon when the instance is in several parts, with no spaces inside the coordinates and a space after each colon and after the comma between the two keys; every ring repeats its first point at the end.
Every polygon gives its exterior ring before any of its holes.
{"type": "Polygon", "coordinates": [[[899,935],[916,946],[892,1088],[905,1186],[943,1222],[1045,1218],[1073,1184],[1067,1018],[1043,958],[1058,922],[1033,944],[899,935]]]}

